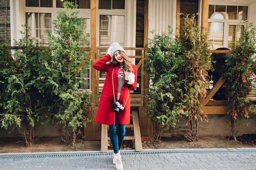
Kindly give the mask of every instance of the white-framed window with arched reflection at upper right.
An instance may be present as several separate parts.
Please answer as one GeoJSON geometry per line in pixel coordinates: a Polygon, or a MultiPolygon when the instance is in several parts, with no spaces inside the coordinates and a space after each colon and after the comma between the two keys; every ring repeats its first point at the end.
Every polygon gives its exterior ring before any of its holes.
{"type": "Polygon", "coordinates": [[[245,6],[209,5],[208,43],[210,49],[234,49],[239,40],[243,21],[247,19],[245,6]]]}

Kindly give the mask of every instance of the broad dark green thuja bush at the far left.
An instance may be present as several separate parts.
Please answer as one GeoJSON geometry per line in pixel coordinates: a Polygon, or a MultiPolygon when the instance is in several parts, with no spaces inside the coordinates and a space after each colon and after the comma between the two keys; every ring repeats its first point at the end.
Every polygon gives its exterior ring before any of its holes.
{"type": "MultiPolygon", "coordinates": [[[[14,42],[12,55],[4,47],[1,53],[0,111],[1,127],[18,129],[27,145],[36,139],[35,125],[39,120],[45,123],[49,115],[42,108],[49,98],[46,90],[45,67],[49,52],[34,48],[35,38],[26,35],[30,28],[23,25],[22,38],[14,42]],[[4,51],[5,49],[5,51],[4,51]]],[[[1,48],[3,46],[1,45],[1,48]]]]}

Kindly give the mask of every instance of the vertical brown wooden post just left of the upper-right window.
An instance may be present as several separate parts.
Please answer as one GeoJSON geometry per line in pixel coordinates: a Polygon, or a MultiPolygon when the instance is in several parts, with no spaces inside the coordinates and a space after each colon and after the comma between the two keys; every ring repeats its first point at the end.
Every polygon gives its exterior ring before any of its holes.
{"type": "Polygon", "coordinates": [[[209,0],[202,0],[201,31],[204,35],[208,33],[209,0]]]}

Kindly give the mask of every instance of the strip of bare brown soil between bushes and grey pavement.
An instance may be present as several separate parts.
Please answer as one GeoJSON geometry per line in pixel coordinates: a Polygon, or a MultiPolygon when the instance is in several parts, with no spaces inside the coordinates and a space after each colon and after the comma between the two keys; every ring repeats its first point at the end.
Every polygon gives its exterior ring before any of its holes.
{"type": "MultiPolygon", "coordinates": [[[[144,139],[145,140],[145,139],[144,139]]],[[[0,138],[0,153],[22,152],[65,152],[101,150],[100,141],[77,139],[76,148],[64,144],[61,137],[41,137],[33,146],[25,146],[22,138],[0,138]]],[[[256,148],[256,135],[243,135],[238,142],[229,137],[200,137],[198,141],[186,141],[184,137],[163,137],[160,144],[146,140],[143,149],[177,149],[177,148],[256,148]]],[[[111,146],[109,147],[111,149],[111,146]]],[[[124,141],[123,150],[134,149],[132,141],[124,141]]]]}

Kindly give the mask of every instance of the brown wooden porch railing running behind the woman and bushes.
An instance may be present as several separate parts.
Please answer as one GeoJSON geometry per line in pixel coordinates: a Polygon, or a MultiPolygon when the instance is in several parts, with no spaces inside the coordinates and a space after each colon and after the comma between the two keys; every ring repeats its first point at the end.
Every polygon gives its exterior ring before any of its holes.
{"type": "MultiPolygon", "coordinates": [[[[21,47],[8,47],[9,49],[22,49],[21,47]]],[[[49,47],[34,47],[35,49],[49,49],[49,47]]],[[[96,49],[96,60],[99,60],[100,57],[103,57],[104,55],[106,55],[106,53],[104,54],[100,54],[100,50],[105,50],[107,51],[108,47],[97,47],[96,49]]],[[[149,86],[149,79],[148,77],[144,74],[144,58],[146,57],[145,53],[146,51],[148,51],[147,48],[124,48],[127,52],[129,51],[130,53],[140,53],[141,55],[129,55],[130,59],[133,59],[134,63],[137,65],[137,90],[131,92],[131,106],[146,106],[147,103],[144,100],[144,95],[145,93],[147,93],[147,91],[145,91],[145,89],[148,88],[149,86]]],[[[83,51],[91,51],[90,47],[82,47],[81,50],[83,51]]],[[[231,50],[211,50],[210,53],[234,53],[234,51],[231,50]]],[[[84,62],[80,63],[79,66],[83,66],[84,64],[86,64],[86,62],[90,59],[90,53],[88,54],[88,56],[86,57],[87,60],[85,60],[84,62]]],[[[94,62],[92,59],[92,62],[94,62]]],[[[91,81],[90,86],[91,87],[96,87],[96,91],[97,92],[101,92],[101,88],[103,87],[104,84],[104,78],[99,77],[100,72],[96,71],[96,81],[91,81]]],[[[94,76],[94,75],[92,75],[94,76]]],[[[224,80],[223,77],[220,77],[220,79],[218,80],[218,82],[216,82],[213,86],[213,88],[211,88],[211,90],[208,92],[207,97],[203,98],[201,100],[201,105],[204,108],[204,113],[205,114],[225,114],[226,109],[225,109],[225,105],[227,101],[223,101],[223,100],[216,100],[216,101],[212,101],[211,98],[213,97],[213,95],[219,90],[219,88],[222,86],[222,84],[224,84],[224,80]],[[209,110],[209,108],[207,106],[221,106],[221,109],[216,109],[213,108],[212,110],[209,110]],[[221,110],[221,111],[220,111],[221,110]]],[[[252,93],[252,95],[250,95],[250,97],[252,98],[256,98],[255,93],[252,93]]],[[[96,99],[96,106],[99,105],[99,97],[97,97],[96,99]]]]}

